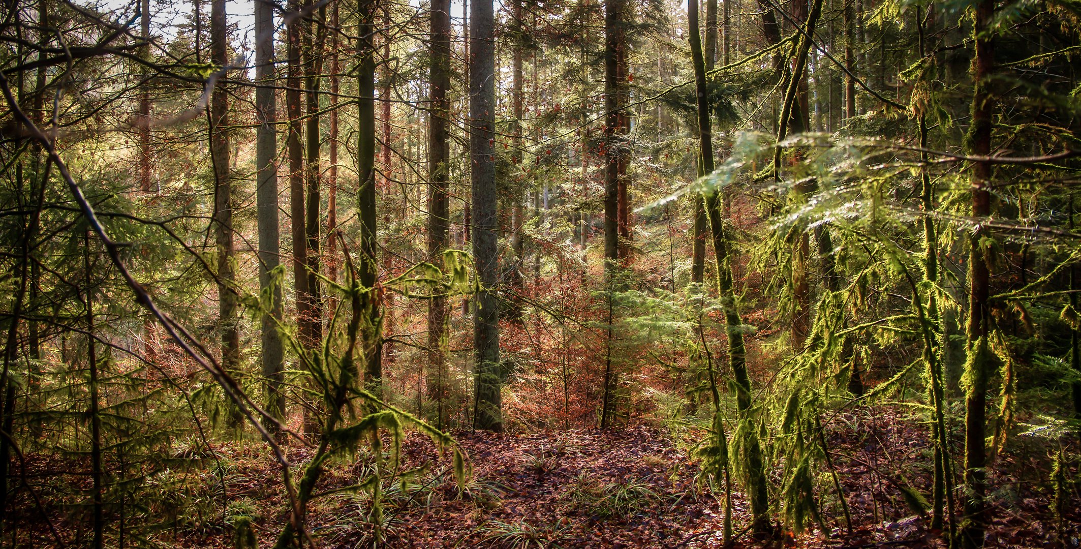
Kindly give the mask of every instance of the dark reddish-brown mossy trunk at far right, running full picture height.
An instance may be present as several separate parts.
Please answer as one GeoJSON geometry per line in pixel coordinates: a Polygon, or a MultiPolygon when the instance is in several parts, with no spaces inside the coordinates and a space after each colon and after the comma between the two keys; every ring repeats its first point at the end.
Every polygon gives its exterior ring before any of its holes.
{"type": "MultiPolygon", "coordinates": [[[[990,77],[995,67],[995,43],[988,28],[995,16],[995,1],[979,0],[975,5],[972,37],[976,44],[973,58],[975,89],[972,95],[972,125],[969,128],[969,148],[973,156],[991,152],[991,125],[995,98],[991,96],[990,77]]],[[[991,214],[991,164],[974,162],[972,165],[972,217],[977,219],[991,214]]],[[[986,407],[987,378],[990,374],[991,310],[989,303],[990,263],[995,247],[984,242],[991,235],[984,225],[977,225],[969,241],[969,327],[967,362],[965,376],[969,381],[964,402],[964,520],[961,546],[973,549],[984,546],[984,531],[989,519],[985,501],[987,473],[986,407]]]]}

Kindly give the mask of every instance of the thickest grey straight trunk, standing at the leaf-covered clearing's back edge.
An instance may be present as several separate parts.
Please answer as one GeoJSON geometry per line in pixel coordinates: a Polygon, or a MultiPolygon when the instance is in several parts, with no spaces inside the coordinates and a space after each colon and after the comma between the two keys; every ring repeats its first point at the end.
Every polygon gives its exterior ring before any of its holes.
{"type": "Polygon", "coordinates": [[[496,250],[495,43],[492,2],[469,5],[469,158],[472,164],[473,262],[480,287],[473,314],[476,399],[473,426],[503,430],[499,363],[499,256],[496,250]]]}

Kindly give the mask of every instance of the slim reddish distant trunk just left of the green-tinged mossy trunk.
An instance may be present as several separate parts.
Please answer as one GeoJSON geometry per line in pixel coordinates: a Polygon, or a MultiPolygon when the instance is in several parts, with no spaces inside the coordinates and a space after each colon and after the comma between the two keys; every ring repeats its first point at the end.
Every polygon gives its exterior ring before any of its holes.
{"type": "MultiPolygon", "coordinates": [[[[331,4],[331,29],[338,28],[338,2],[331,4]]],[[[337,150],[338,150],[338,72],[342,70],[342,63],[338,58],[341,48],[341,35],[333,30],[331,34],[330,51],[331,70],[328,79],[331,84],[331,94],[328,98],[328,134],[326,145],[326,258],[324,260],[326,278],[337,281],[337,270],[341,262],[337,258],[337,150]]],[[[326,309],[329,314],[334,314],[337,305],[334,299],[328,296],[326,309]]]]}

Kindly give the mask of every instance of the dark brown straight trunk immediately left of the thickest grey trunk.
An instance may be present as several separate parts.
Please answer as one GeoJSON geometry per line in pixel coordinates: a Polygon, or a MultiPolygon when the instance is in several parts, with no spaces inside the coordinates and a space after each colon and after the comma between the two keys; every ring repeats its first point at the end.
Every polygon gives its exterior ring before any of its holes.
{"type": "MultiPolygon", "coordinates": [[[[451,0],[431,2],[431,65],[428,72],[428,258],[442,267],[441,254],[446,250],[450,226],[448,185],[450,150],[446,126],[451,105],[446,91],[451,88],[451,0]]],[[[448,397],[445,349],[446,299],[428,302],[428,398],[436,403],[436,427],[446,421],[444,407],[448,397]]]]}

